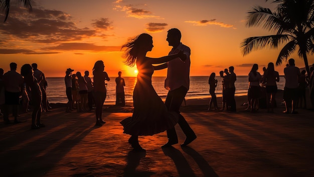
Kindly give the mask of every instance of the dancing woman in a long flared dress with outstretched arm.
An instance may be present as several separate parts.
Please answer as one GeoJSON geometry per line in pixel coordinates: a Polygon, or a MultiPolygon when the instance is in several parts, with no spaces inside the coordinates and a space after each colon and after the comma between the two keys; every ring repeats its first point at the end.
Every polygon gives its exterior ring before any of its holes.
{"type": "Polygon", "coordinates": [[[126,48],[126,64],[136,64],[138,70],[133,91],[133,115],[120,122],[124,127],[123,133],[131,135],[128,142],[134,150],[144,150],[138,143],[138,136],[164,132],[178,122],[178,113],[168,112],[164,102],[155,92],[151,85],[151,76],[154,70],[160,69],[152,64],[168,62],[182,56],[183,52],[161,58],[146,57],[152,47],[152,37],[148,34],[140,34],[122,46],[126,48]]]}

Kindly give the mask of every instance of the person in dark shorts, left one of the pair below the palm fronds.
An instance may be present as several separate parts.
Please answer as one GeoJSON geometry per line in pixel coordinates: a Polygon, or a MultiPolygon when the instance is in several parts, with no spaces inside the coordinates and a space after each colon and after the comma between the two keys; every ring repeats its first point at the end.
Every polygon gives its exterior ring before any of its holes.
{"type": "Polygon", "coordinates": [[[256,105],[258,104],[258,98],[260,96],[259,83],[262,81],[262,75],[257,72],[258,64],[253,64],[251,71],[249,72],[249,98],[251,99],[251,112],[256,112],[256,105]]]}

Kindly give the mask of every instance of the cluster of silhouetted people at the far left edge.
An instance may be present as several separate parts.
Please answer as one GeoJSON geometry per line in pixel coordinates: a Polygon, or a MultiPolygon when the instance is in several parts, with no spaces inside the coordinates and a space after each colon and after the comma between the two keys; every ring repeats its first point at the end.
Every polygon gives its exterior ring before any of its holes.
{"type": "Polygon", "coordinates": [[[41,112],[51,109],[47,100],[48,86],[45,74],[37,68],[37,63],[24,64],[21,73],[17,72],[17,63],[10,63],[10,71],[4,73],[0,69],[0,110],[5,123],[11,123],[9,115],[13,115],[14,122],[19,113],[28,113],[32,110],[32,129],[45,127],[41,122],[41,112]],[[19,107],[22,110],[19,112],[19,107]]]}

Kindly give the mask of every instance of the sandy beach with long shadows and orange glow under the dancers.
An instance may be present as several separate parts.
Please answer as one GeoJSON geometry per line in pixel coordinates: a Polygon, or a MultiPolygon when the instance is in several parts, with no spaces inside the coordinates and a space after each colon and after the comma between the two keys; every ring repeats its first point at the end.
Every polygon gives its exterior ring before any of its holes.
{"type": "Polygon", "coordinates": [[[314,112],[283,114],[281,98],[274,113],[245,111],[246,96],[236,97],[236,113],[208,112],[209,99],[187,100],[182,115],[197,139],[181,147],[177,125],[179,144],[161,148],[166,132],[139,137],[145,152],[132,151],[119,124],[132,115],[131,103],[105,103],[101,127],[94,113],[52,104],[39,130],[30,129],[31,113],[19,124],[0,123],[1,176],[314,176],[314,112]]]}

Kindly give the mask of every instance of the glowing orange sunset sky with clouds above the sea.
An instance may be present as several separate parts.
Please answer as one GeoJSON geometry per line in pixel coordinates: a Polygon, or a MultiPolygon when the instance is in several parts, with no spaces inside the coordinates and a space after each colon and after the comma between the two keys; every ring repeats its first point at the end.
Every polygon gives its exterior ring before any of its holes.
{"type": "MultiPolygon", "coordinates": [[[[13,1],[14,2],[14,1],[13,1]]],[[[6,23],[0,24],[0,67],[5,72],[11,62],[18,72],[25,63],[38,63],[47,77],[64,76],[66,68],[89,70],[103,60],[109,77],[135,76],[126,66],[120,51],[128,38],[141,33],[153,37],[154,48],[149,57],[167,55],[171,50],[167,31],[178,28],[182,42],[191,48],[191,75],[210,75],[235,67],[237,75],[247,75],[254,63],[259,71],[275,62],[279,50],[254,51],[242,56],[240,43],[247,37],[271,34],[259,28],[246,28],[246,12],[254,5],[274,9],[264,0],[247,1],[33,1],[33,11],[11,6],[6,23]]],[[[3,13],[0,20],[4,20],[3,13]]],[[[303,60],[292,56],[296,66],[303,60]]],[[[314,57],[308,57],[309,64],[314,57]]],[[[282,66],[275,69],[283,74],[282,66]]],[[[167,70],[155,71],[165,76],[167,70]]]]}

